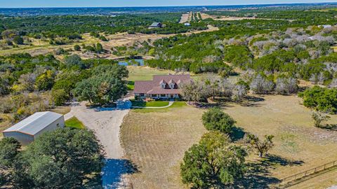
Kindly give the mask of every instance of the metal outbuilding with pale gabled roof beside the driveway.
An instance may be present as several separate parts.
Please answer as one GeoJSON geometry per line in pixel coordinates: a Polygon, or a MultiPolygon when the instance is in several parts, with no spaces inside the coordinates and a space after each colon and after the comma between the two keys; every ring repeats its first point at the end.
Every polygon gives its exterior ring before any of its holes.
{"type": "Polygon", "coordinates": [[[44,111],[34,113],[25,120],[4,130],[4,137],[13,137],[22,145],[30,144],[41,134],[65,127],[65,118],[58,113],[44,111]]]}

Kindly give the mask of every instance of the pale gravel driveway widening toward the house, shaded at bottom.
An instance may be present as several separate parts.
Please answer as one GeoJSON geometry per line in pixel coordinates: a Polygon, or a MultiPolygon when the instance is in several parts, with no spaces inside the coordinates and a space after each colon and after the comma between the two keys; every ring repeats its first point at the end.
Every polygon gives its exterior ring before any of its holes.
{"type": "Polygon", "coordinates": [[[124,151],[119,141],[119,127],[129,109],[88,109],[85,102],[72,106],[65,118],[77,117],[88,129],[93,130],[106,153],[107,163],[103,169],[103,187],[120,188],[121,178],[128,173],[124,151]]]}

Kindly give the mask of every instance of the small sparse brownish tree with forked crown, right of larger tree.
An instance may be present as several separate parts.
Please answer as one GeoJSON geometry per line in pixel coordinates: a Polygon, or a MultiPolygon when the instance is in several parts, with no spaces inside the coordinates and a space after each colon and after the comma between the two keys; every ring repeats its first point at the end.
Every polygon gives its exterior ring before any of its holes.
{"type": "Polygon", "coordinates": [[[248,134],[247,142],[258,151],[258,156],[263,158],[263,155],[267,155],[268,151],[274,146],[273,138],[273,135],[265,135],[265,140],[260,141],[254,134],[248,134]]]}

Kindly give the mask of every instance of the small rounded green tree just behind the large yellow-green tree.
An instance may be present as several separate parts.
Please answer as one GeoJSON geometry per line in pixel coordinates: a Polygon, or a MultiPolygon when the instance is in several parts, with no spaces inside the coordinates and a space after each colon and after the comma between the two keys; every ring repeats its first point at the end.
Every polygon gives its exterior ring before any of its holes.
{"type": "Polygon", "coordinates": [[[225,134],[231,134],[236,122],[227,113],[213,108],[202,115],[202,123],[207,130],[218,130],[225,134]]]}

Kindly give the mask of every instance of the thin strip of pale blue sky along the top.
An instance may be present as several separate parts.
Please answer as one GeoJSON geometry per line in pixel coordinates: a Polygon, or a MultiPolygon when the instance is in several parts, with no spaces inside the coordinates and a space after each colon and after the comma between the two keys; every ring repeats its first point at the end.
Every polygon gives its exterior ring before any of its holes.
{"type": "Polygon", "coordinates": [[[269,3],[317,3],[333,0],[0,0],[0,7],[205,6],[269,3]]]}

